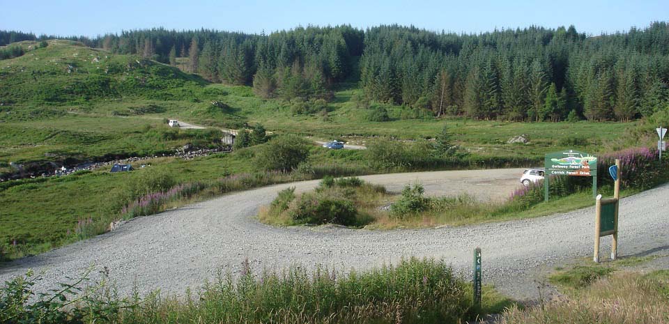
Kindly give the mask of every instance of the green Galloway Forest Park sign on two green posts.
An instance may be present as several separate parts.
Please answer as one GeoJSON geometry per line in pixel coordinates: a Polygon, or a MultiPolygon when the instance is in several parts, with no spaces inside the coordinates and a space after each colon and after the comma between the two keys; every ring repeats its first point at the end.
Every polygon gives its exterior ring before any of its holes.
{"type": "Polygon", "coordinates": [[[591,176],[592,195],[597,196],[597,157],[590,154],[565,150],[546,154],[544,159],[544,198],[548,201],[548,179],[550,176],[591,176]]]}

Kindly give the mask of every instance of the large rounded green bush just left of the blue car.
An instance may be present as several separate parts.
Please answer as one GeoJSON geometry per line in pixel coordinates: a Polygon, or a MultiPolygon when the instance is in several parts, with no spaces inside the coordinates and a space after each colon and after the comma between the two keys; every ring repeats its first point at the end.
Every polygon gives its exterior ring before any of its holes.
{"type": "Polygon", "coordinates": [[[256,155],[255,165],[265,171],[290,172],[309,157],[307,142],[301,137],[286,135],[272,139],[256,155]]]}

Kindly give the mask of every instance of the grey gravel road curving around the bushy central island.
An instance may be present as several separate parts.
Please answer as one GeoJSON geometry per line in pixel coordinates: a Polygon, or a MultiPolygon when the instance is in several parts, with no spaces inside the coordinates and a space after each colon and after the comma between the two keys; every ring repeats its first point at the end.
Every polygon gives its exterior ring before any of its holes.
{"type": "MultiPolygon", "coordinates": [[[[399,173],[362,177],[399,191],[421,181],[430,194],[470,192],[479,199],[505,199],[522,169],[399,173]]],[[[466,273],[472,250],[482,248],[484,283],[514,298],[537,296],[535,279],[567,259],[592,256],[594,208],[537,219],[438,229],[368,231],[339,226],[275,228],[254,219],[260,206],[279,190],[298,191],[318,181],[273,185],[238,192],[158,215],[140,217],[120,229],[52,252],[20,259],[0,269],[0,281],[27,268],[45,270],[38,288],[76,277],[83,268],[107,267],[120,293],[133,286],[148,292],[183,294],[213,279],[219,270],[238,272],[249,259],[256,269],[280,269],[298,263],[347,270],[394,263],[407,256],[443,258],[466,273]]],[[[621,256],[669,249],[669,185],[622,199],[621,256]]],[[[608,254],[609,239],[601,253],[608,254]]]]}

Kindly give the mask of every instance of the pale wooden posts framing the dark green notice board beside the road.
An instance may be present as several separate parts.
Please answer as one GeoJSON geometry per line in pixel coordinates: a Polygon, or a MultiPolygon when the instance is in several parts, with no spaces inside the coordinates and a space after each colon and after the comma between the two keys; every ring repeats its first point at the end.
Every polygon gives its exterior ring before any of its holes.
{"type": "Polygon", "coordinates": [[[620,203],[620,160],[615,160],[615,180],[613,198],[602,199],[597,196],[594,219],[594,262],[599,262],[599,240],[602,236],[613,236],[611,242],[611,260],[615,260],[618,248],[618,206],[620,203]]]}

